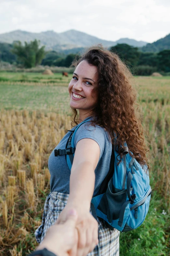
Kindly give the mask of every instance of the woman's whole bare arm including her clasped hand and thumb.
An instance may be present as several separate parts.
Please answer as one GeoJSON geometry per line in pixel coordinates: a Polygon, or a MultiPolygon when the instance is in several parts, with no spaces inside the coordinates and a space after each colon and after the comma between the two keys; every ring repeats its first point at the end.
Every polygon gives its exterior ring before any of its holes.
{"type": "Polygon", "coordinates": [[[92,139],[78,141],[70,175],[70,195],[67,205],[58,218],[65,221],[71,208],[78,213],[78,250],[77,256],[86,256],[98,242],[98,222],[90,213],[90,204],[94,192],[95,173],[100,157],[100,147],[92,139]]]}

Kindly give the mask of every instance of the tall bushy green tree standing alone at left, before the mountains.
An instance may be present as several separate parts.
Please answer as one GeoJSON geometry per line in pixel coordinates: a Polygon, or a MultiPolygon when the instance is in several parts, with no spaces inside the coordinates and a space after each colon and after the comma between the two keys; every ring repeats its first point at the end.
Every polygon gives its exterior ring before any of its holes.
{"type": "Polygon", "coordinates": [[[45,56],[45,46],[39,48],[39,45],[40,41],[36,39],[30,43],[25,42],[25,45],[18,41],[13,45],[12,53],[17,55],[24,67],[32,68],[40,64],[45,56]]]}

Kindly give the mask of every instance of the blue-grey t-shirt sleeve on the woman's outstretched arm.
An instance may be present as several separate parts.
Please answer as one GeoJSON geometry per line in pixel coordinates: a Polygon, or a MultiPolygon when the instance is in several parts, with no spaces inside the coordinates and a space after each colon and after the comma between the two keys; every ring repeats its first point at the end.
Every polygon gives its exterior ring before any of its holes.
{"type": "Polygon", "coordinates": [[[76,131],[74,138],[74,144],[77,145],[78,141],[81,139],[89,138],[96,141],[100,147],[100,157],[102,157],[104,147],[105,147],[105,134],[102,127],[96,125],[96,127],[89,124],[82,124],[76,131]]]}

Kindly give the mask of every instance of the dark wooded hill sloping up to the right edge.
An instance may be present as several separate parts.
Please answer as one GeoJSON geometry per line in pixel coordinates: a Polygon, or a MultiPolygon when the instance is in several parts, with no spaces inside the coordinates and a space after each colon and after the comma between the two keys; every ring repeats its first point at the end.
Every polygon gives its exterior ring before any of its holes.
{"type": "Polygon", "coordinates": [[[160,52],[163,50],[170,50],[170,34],[157,40],[154,43],[147,43],[141,48],[143,52],[160,52]]]}

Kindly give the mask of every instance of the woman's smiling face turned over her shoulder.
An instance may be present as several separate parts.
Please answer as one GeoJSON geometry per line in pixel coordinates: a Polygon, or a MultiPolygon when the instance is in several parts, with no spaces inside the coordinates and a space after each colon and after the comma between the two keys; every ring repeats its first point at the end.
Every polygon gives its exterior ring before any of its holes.
{"type": "Polygon", "coordinates": [[[91,111],[97,103],[97,93],[93,92],[92,94],[93,88],[96,87],[96,81],[96,66],[90,65],[86,60],[82,60],[76,67],[68,86],[70,107],[79,110],[80,119],[88,117],[89,114],[87,112],[91,111]]]}

